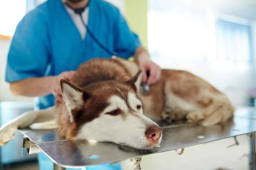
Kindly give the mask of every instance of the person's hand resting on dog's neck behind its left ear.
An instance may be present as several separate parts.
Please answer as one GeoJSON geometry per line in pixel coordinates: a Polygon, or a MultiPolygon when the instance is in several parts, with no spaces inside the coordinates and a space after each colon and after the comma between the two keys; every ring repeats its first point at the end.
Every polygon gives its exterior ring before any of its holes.
{"type": "Polygon", "coordinates": [[[74,76],[75,73],[76,73],[76,71],[64,71],[61,74],[54,77],[54,80],[52,83],[52,94],[55,96],[55,99],[58,102],[62,101],[60,80],[61,79],[70,80],[74,76]]]}

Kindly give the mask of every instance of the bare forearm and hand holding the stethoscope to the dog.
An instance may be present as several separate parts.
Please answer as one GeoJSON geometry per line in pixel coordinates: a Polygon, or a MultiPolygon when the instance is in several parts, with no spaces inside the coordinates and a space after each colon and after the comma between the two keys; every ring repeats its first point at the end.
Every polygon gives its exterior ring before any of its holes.
{"type": "Polygon", "coordinates": [[[138,61],[139,67],[142,70],[143,82],[151,85],[160,80],[161,68],[150,59],[145,48],[142,46],[138,47],[134,52],[134,58],[138,61]],[[149,71],[149,77],[147,77],[147,71],[149,71]]]}

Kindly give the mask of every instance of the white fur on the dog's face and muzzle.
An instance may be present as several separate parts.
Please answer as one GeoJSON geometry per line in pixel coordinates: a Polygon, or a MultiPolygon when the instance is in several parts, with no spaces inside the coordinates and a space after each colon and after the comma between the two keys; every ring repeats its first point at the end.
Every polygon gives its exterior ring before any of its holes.
{"type": "Polygon", "coordinates": [[[141,105],[140,100],[132,93],[128,95],[128,102],[136,111],[133,114],[129,113],[130,111],[125,101],[119,96],[112,96],[109,102],[111,105],[105,108],[99,118],[83,125],[77,138],[93,141],[111,141],[140,149],[147,148],[148,142],[145,137],[145,130],[148,126],[157,124],[143,115],[142,108],[137,111],[136,106],[141,105]],[[122,115],[125,118],[104,114],[116,108],[124,111],[122,115]],[[92,129],[94,132],[92,132],[92,129]]]}

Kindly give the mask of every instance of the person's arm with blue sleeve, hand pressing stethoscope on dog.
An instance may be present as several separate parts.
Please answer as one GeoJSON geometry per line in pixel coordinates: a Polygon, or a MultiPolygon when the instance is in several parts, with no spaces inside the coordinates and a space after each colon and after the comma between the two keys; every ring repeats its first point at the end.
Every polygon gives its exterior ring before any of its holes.
{"type": "Polygon", "coordinates": [[[161,69],[157,64],[151,61],[148,51],[143,48],[140,43],[140,38],[131,31],[119,10],[116,10],[113,16],[116,16],[114,22],[115,52],[119,57],[126,59],[134,56],[139,63],[140,69],[143,71],[143,82],[147,82],[148,85],[151,85],[159,81],[161,69]],[[149,77],[146,76],[147,71],[149,71],[149,77]]]}

